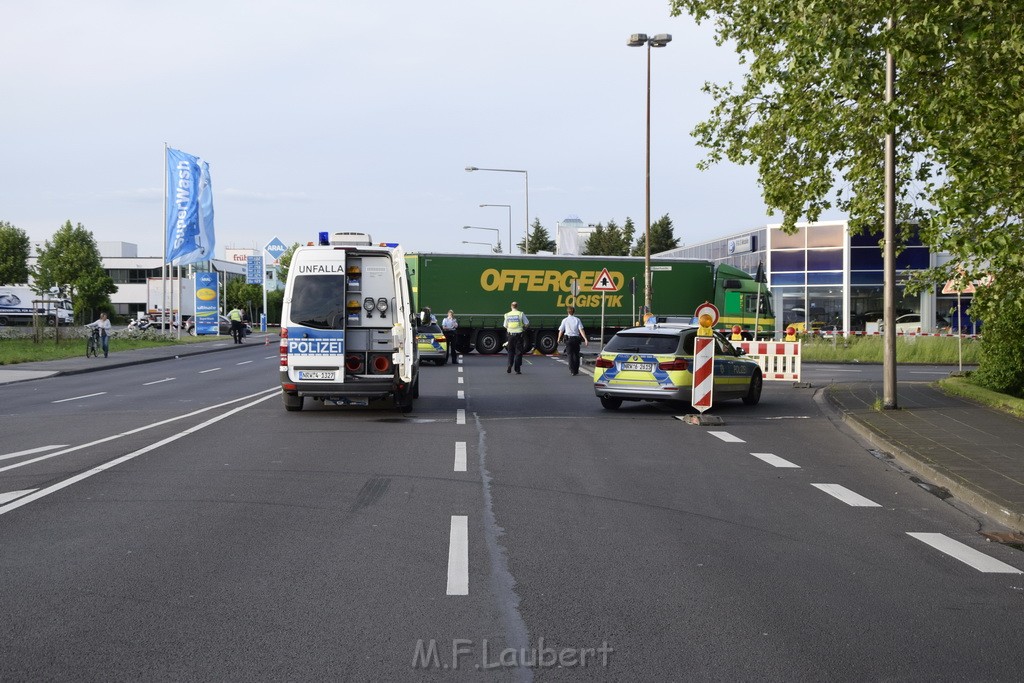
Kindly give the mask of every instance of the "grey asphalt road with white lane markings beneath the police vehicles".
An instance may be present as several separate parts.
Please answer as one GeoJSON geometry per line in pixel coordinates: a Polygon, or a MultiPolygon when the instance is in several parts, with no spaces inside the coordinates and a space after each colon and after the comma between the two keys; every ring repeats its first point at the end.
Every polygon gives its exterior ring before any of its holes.
{"type": "Polygon", "coordinates": [[[1024,555],[813,388],[700,427],[549,357],[424,367],[409,415],[276,373],[0,386],[0,679],[1019,679],[1024,555]]]}

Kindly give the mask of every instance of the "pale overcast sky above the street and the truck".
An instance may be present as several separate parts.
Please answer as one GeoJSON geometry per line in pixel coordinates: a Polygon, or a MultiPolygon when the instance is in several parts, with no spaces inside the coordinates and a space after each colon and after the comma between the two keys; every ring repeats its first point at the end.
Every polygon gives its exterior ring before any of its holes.
{"type": "Polygon", "coordinates": [[[409,251],[508,251],[529,222],[651,220],[682,244],[773,222],[751,167],[696,169],[705,81],[738,80],[668,0],[81,0],[0,9],[0,220],[66,220],[163,253],[164,143],[209,162],[217,254],[370,232],[409,251]],[[463,225],[499,228],[464,230],[463,225]]]}

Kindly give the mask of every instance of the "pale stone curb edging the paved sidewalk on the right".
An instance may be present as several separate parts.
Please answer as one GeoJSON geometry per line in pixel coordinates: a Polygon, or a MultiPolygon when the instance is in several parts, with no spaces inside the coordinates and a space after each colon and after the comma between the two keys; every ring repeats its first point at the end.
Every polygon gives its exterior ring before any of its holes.
{"type": "Polygon", "coordinates": [[[855,432],[857,436],[866,441],[869,445],[891,456],[893,460],[895,460],[907,471],[922,477],[927,477],[932,482],[946,488],[955,499],[963,501],[966,505],[969,505],[971,508],[977,510],[993,522],[1007,526],[1015,531],[1024,532],[1024,514],[1007,510],[998,503],[993,503],[985,498],[983,493],[965,484],[962,480],[950,477],[931,465],[918,460],[916,457],[907,453],[903,449],[893,445],[881,434],[857,420],[857,418],[852,414],[843,411],[839,402],[833,398],[831,392],[827,387],[823,387],[819,391],[816,391],[814,394],[814,400],[815,402],[826,408],[833,416],[839,418],[843,424],[850,427],[850,429],[855,432]]]}

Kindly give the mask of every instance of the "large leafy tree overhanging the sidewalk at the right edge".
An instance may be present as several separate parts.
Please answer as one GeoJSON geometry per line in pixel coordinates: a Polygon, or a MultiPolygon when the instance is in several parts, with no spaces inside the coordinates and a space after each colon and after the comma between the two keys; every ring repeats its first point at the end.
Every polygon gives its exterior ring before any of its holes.
{"type": "Polygon", "coordinates": [[[916,222],[933,249],[954,256],[931,283],[958,272],[994,278],[972,306],[986,324],[979,376],[994,372],[989,364],[1012,367],[1000,385],[1024,392],[1024,335],[999,333],[1002,322],[1024,319],[1024,5],[671,0],[671,7],[713,22],[718,43],[748,65],[741,83],[705,86],[715,105],[694,130],[709,151],[701,166],[756,165],[765,203],[782,213],[786,229],[838,209],[851,230],[871,233],[883,223],[883,139],[895,131],[896,224],[916,222]],[[889,103],[887,54],[896,72],[889,103]]]}

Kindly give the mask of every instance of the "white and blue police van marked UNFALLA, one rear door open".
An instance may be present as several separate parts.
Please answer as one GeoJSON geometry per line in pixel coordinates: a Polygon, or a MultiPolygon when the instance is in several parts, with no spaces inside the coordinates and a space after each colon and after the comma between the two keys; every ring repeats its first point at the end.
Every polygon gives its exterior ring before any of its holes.
{"type": "Polygon", "coordinates": [[[285,409],[305,398],[334,405],[390,399],[403,413],[419,395],[417,319],[396,246],[360,232],[319,233],[292,256],[281,318],[285,409]]]}

